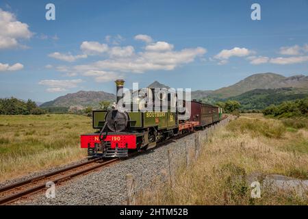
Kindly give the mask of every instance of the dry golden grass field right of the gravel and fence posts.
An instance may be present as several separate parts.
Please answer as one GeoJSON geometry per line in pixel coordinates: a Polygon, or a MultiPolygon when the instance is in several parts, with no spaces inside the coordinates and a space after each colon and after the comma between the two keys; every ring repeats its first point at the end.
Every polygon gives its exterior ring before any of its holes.
{"type": "Polygon", "coordinates": [[[240,116],[203,142],[200,157],[189,168],[179,166],[173,188],[156,183],[139,194],[138,204],[307,205],[308,194],[272,191],[266,185],[261,185],[261,198],[251,198],[246,181],[256,174],[261,182],[270,174],[308,179],[308,130],[297,124],[261,114],[240,116]]]}

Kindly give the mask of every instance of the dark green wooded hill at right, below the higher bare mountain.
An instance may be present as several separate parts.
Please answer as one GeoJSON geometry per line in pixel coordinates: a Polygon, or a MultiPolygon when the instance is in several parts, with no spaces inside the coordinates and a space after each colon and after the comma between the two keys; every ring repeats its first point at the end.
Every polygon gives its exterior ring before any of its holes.
{"type": "Polygon", "coordinates": [[[307,96],[307,88],[255,89],[220,101],[238,101],[242,110],[263,110],[271,104],[279,105],[283,101],[303,99],[307,96]]]}

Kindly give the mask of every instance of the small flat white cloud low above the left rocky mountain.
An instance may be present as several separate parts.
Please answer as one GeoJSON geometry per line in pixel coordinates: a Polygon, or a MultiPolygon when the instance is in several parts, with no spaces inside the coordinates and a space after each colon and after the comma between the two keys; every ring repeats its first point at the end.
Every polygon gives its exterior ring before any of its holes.
{"type": "Polygon", "coordinates": [[[42,80],[38,82],[38,84],[43,86],[48,86],[47,92],[64,92],[68,88],[76,88],[79,83],[81,83],[81,79],[73,79],[73,80],[42,80]]]}

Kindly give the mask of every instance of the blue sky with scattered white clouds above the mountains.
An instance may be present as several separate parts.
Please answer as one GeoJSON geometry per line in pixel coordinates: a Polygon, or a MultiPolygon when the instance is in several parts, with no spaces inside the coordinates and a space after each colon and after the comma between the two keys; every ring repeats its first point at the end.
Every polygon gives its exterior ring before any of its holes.
{"type": "Polygon", "coordinates": [[[215,90],[267,72],[307,75],[308,0],[0,0],[0,98],[115,93],[119,78],[215,90]]]}

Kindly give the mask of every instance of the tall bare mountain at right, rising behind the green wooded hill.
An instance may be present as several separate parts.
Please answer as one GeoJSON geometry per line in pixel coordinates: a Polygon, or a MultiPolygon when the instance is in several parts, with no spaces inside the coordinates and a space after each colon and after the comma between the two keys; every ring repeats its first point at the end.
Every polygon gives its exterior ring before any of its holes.
{"type": "Polygon", "coordinates": [[[308,88],[308,76],[295,75],[284,77],[275,73],[261,73],[246,77],[242,81],[231,86],[220,88],[211,92],[210,96],[216,98],[228,98],[238,96],[244,92],[255,89],[269,88],[308,88]]]}

